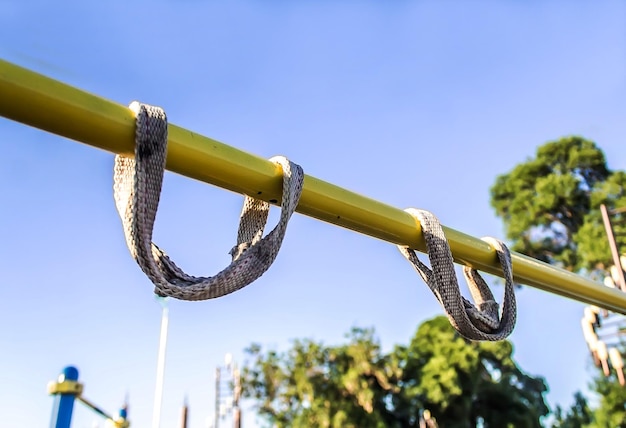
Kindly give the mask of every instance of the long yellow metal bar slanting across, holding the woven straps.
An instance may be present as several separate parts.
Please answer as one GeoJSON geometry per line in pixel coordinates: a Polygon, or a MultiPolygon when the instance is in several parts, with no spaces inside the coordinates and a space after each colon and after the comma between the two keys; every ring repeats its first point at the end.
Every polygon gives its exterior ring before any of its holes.
{"type": "MultiPolygon", "coordinates": [[[[113,153],[132,154],[134,117],[125,106],[0,60],[0,116],[113,153]]],[[[273,163],[169,125],[167,169],[270,202],[280,200],[273,163]]],[[[306,176],[298,212],[394,244],[424,251],[419,224],[402,210],[306,176]]],[[[495,251],[478,238],[445,228],[455,260],[500,275],[495,251]]],[[[514,253],[515,280],[626,314],[626,293],[514,253]]]]}

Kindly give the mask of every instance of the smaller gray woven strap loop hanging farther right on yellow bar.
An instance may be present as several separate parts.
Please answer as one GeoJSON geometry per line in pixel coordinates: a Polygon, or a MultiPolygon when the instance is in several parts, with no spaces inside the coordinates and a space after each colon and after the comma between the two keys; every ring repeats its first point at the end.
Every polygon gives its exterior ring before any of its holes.
{"type": "Polygon", "coordinates": [[[506,245],[494,238],[483,238],[483,241],[495,248],[502,265],[505,285],[500,318],[498,303],[486,282],[475,269],[467,266],[463,268],[463,274],[476,306],[461,295],[452,252],[439,220],[428,211],[413,208],[406,211],[419,220],[422,226],[432,270],[417,258],[414,250],[406,246],[398,246],[398,249],[428,284],[452,326],[471,340],[505,339],[513,331],[517,316],[511,253],[506,245]]]}

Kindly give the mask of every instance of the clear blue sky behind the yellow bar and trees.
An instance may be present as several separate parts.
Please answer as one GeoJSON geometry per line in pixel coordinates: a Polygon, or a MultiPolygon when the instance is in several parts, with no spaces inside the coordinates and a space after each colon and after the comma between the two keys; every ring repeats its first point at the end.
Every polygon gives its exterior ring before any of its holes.
{"type": "MultiPolygon", "coordinates": [[[[621,1],[3,0],[0,41],[6,60],[474,236],[502,237],[489,188],[546,141],[585,136],[626,168],[621,1]]],[[[46,426],[46,383],[75,364],[87,398],[114,411],[128,393],[150,426],[160,307],[124,243],[112,154],[1,118],[0,148],[2,425],[46,426]]],[[[167,174],[155,240],[212,275],[241,200],[167,174]]],[[[583,305],[529,287],[518,302],[515,357],[567,405],[591,374],[583,305]]],[[[389,350],[441,313],[393,245],[295,215],[256,283],[171,302],[162,426],[187,395],[206,427],[226,352],[338,344],[354,325],[389,350]]],[[[77,407],[73,426],[94,420],[77,407]]]]}

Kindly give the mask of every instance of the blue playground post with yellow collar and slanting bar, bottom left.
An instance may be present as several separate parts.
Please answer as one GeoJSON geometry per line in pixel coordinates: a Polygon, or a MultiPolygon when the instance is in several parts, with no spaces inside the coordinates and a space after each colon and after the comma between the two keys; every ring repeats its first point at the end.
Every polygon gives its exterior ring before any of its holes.
{"type": "Polygon", "coordinates": [[[119,416],[114,418],[82,396],[83,384],[78,382],[78,369],[76,367],[65,367],[59,378],[48,384],[48,393],[55,396],[52,421],[50,422],[51,428],[70,428],[75,400],[104,417],[108,423],[107,426],[111,428],[128,428],[130,426],[126,405],[120,409],[119,416]]]}

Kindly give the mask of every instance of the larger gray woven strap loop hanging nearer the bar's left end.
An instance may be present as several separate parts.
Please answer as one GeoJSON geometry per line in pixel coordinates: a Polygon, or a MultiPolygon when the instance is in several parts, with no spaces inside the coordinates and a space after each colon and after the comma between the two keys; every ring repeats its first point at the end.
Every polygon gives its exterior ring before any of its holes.
{"type": "Polygon", "coordinates": [[[152,243],[167,154],[167,118],[158,107],[134,102],[130,108],[137,115],[135,157],[115,157],[114,198],[126,244],[154,283],[155,293],[183,300],[212,299],[237,291],[263,275],[276,258],[287,223],[298,205],[304,181],[302,168],[283,157],[270,159],[283,172],[276,227],[263,237],[270,205],[246,196],[237,245],[230,251],[232,263],[212,277],[187,275],[152,243]]]}

